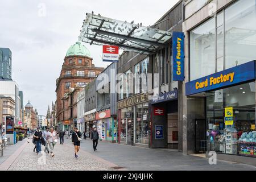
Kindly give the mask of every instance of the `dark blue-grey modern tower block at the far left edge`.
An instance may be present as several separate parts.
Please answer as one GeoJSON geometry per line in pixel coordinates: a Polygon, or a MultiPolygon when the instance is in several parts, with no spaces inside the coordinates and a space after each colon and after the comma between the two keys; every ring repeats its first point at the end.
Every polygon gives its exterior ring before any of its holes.
{"type": "Polygon", "coordinates": [[[0,47],[0,77],[11,79],[11,50],[0,47]]]}

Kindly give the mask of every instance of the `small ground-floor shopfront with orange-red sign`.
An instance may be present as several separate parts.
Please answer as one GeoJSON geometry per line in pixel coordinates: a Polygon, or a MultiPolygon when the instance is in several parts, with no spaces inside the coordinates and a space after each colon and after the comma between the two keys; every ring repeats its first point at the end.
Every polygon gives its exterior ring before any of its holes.
{"type": "Polygon", "coordinates": [[[97,130],[101,140],[110,142],[117,141],[117,120],[114,119],[110,110],[96,113],[97,130]]]}

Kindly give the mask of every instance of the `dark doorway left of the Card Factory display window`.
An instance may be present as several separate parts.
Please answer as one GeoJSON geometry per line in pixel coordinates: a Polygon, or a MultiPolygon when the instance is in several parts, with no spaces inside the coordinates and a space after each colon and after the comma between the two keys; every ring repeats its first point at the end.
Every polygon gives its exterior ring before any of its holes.
{"type": "Polygon", "coordinates": [[[207,150],[206,121],[196,119],[195,124],[195,151],[203,153],[207,150]]]}

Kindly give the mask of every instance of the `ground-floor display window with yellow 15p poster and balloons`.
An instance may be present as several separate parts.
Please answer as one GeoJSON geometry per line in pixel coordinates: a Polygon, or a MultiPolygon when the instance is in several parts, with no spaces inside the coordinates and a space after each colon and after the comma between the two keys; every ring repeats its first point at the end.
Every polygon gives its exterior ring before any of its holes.
{"type": "Polygon", "coordinates": [[[256,156],[255,82],[207,93],[207,149],[256,156]]]}

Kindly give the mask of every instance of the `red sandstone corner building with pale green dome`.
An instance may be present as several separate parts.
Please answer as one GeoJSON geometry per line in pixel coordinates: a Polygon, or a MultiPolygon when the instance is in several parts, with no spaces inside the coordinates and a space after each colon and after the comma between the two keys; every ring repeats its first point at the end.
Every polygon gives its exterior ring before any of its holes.
{"type": "Polygon", "coordinates": [[[77,92],[104,69],[94,67],[92,60],[89,50],[80,42],[67,51],[55,90],[56,122],[60,130],[71,130],[76,125],[77,92]]]}

